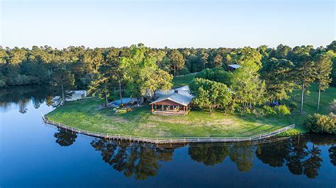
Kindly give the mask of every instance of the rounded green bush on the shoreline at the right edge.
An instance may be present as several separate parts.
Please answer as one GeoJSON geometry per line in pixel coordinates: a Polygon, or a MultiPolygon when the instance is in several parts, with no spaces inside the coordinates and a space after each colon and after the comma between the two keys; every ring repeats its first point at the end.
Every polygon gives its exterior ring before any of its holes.
{"type": "Polygon", "coordinates": [[[314,133],[336,134],[336,117],[332,113],[329,115],[309,115],[306,122],[306,128],[308,131],[314,133]]]}

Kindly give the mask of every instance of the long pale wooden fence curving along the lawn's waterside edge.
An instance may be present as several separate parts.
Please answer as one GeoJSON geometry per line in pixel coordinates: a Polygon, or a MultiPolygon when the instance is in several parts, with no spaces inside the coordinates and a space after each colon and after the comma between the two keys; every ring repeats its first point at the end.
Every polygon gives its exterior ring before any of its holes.
{"type": "Polygon", "coordinates": [[[149,138],[142,136],[130,136],[123,134],[105,134],[94,131],[86,131],[82,129],[77,129],[74,127],[69,127],[65,124],[60,124],[58,122],[52,122],[47,117],[42,115],[43,122],[45,124],[52,124],[56,127],[60,127],[62,129],[67,129],[69,131],[85,134],[89,136],[94,136],[103,139],[111,139],[111,140],[119,140],[119,141],[131,141],[131,142],[142,142],[142,143],[207,143],[207,142],[241,142],[241,141],[256,141],[260,139],[267,139],[276,134],[280,134],[289,129],[293,129],[295,124],[291,124],[286,127],[282,127],[280,129],[276,129],[274,131],[270,131],[264,134],[258,134],[256,136],[250,137],[183,137],[183,138],[149,138]]]}

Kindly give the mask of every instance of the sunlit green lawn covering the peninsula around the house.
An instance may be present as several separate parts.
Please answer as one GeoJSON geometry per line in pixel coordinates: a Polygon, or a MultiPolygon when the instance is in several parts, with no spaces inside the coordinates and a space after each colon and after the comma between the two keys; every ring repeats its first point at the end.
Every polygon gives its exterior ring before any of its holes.
{"type": "MultiPolygon", "coordinates": [[[[189,83],[194,75],[174,78],[175,86],[189,83]]],[[[191,110],[181,117],[165,117],[150,114],[150,106],[137,107],[133,112],[113,114],[111,108],[99,109],[103,103],[98,98],[67,102],[65,107],[58,107],[47,117],[67,126],[89,131],[111,134],[127,134],[147,137],[183,137],[183,136],[253,136],[279,129],[289,124],[296,124],[296,129],[283,135],[305,132],[303,122],[308,114],[313,114],[317,107],[317,87],[312,86],[310,95],[306,96],[304,112],[298,112],[300,91],[293,93],[298,107],[289,116],[267,115],[256,117],[254,114],[227,114],[220,112],[209,114],[207,111],[191,110]]],[[[321,95],[321,113],[327,113],[329,103],[336,98],[336,88],[329,88],[321,95]]]]}

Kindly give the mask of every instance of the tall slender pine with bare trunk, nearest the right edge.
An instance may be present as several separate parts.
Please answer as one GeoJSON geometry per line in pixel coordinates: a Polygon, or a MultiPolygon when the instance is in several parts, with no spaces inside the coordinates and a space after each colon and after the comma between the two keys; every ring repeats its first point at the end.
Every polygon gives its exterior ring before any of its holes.
{"type": "Polygon", "coordinates": [[[318,111],[320,110],[320,95],[321,90],[329,87],[331,82],[330,74],[332,70],[332,61],[325,54],[320,54],[315,57],[315,66],[317,70],[316,81],[318,82],[318,111]]]}

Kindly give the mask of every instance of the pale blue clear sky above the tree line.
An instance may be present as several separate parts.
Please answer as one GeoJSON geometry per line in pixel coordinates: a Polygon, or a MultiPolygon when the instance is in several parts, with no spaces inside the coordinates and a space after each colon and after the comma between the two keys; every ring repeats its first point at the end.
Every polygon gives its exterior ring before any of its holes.
{"type": "Polygon", "coordinates": [[[335,0],[0,0],[0,45],[329,45],[335,0]]]}

